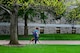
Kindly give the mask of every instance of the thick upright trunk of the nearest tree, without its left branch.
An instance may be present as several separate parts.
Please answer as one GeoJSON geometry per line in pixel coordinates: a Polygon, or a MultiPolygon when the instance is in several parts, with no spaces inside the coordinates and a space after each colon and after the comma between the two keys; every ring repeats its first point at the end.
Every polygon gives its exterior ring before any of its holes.
{"type": "Polygon", "coordinates": [[[10,20],[10,42],[9,44],[18,45],[18,10],[16,8],[13,9],[11,20],[10,20]]]}

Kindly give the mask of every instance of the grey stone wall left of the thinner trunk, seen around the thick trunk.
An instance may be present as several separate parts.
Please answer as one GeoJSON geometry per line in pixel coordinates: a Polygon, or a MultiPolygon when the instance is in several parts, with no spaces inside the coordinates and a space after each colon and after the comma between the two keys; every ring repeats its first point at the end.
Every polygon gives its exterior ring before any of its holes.
{"type": "MultiPolygon", "coordinates": [[[[0,26],[0,34],[1,35],[10,34],[10,27],[9,26],[0,26]]],[[[18,27],[18,34],[20,34],[20,35],[24,34],[24,27],[22,27],[22,26],[18,27]]]]}

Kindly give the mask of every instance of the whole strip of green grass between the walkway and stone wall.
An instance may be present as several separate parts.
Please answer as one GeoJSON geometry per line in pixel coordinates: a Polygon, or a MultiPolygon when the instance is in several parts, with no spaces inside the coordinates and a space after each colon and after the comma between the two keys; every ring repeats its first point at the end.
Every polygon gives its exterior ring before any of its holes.
{"type": "MultiPolygon", "coordinates": [[[[19,40],[30,40],[33,36],[19,36],[19,40]]],[[[9,35],[1,35],[0,40],[8,40],[9,35]]],[[[40,40],[80,40],[80,34],[40,34],[40,40]]]]}

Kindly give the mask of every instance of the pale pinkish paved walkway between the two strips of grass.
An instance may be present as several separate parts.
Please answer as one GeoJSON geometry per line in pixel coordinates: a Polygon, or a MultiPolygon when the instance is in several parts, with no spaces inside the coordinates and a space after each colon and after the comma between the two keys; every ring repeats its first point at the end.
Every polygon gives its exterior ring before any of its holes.
{"type": "MultiPolygon", "coordinates": [[[[80,45],[80,41],[67,41],[67,40],[46,40],[46,41],[42,41],[40,40],[39,42],[37,42],[37,44],[68,44],[68,45],[80,45]],[[40,43],[39,43],[40,42],[40,43]]],[[[0,45],[3,44],[8,44],[9,40],[0,40],[0,45]]],[[[28,40],[19,40],[20,44],[34,44],[34,42],[30,42],[28,40]]]]}

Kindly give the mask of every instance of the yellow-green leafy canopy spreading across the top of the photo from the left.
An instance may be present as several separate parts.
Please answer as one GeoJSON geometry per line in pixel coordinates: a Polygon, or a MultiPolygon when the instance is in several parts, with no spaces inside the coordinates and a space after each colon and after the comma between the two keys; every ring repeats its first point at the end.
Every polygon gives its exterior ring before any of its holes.
{"type": "MultiPolygon", "coordinates": [[[[65,10],[66,10],[66,5],[64,5],[64,0],[58,1],[58,0],[1,0],[2,4],[5,4],[7,6],[12,6],[14,4],[14,2],[16,1],[16,4],[20,5],[21,7],[19,8],[22,9],[20,10],[20,12],[23,14],[24,12],[22,11],[27,11],[28,8],[34,8],[36,7],[36,9],[40,8],[40,11],[45,11],[47,8],[52,9],[51,11],[53,13],[53,15],[57,18],[61,18],[62,15],[64,14],[65,10]],[[27,10],[26,10],[27,9],[27,10]]],[[[30,10],[29,10],[30,11],[30,10]]],[[[19,15],[21,15],[21,13],[19,12],[19,15]]],[[[28,14],[34,14],[31,12],[27,12],[28,14]]],[[[22,15],[21,15],[22,16],[22,15]]],[[[44,16],[46,18],[46,16],[44,16]]],[[[44,17],[42,17],[44,19],[44,17]]]]}

